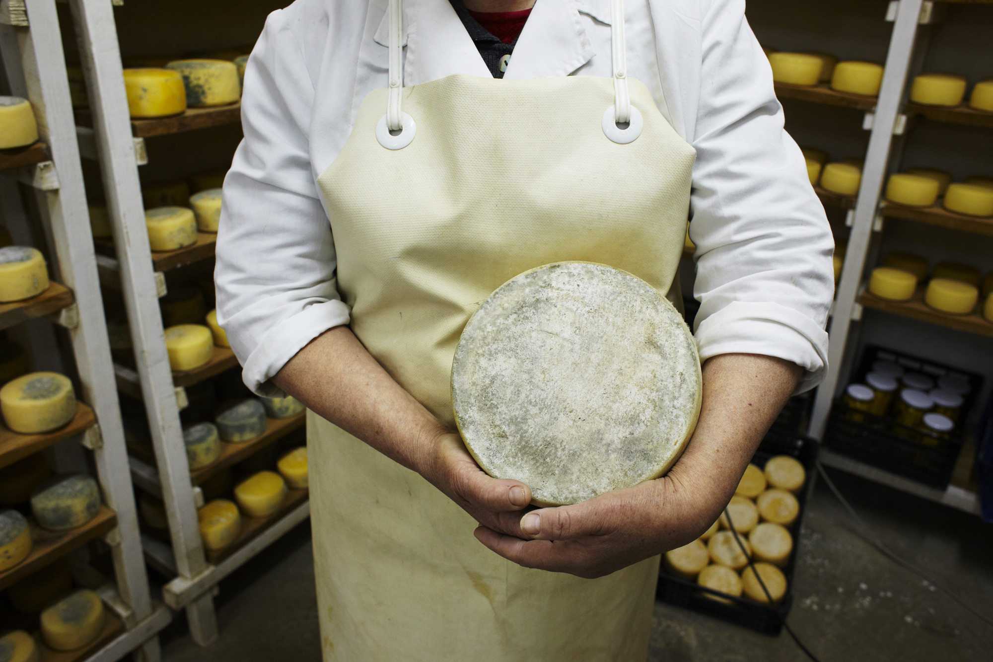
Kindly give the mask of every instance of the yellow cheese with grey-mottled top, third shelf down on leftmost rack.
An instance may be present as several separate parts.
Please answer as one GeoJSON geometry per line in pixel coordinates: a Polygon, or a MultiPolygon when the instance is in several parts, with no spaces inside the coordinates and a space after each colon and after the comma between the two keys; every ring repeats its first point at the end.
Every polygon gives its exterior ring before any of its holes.
{"type": "Polygon", "coordinates": [[[0,389],[0,411],[7,427],[22,434],[62,427],[75,416],[72,383],[59,373],[29,373],[0,389]]]}

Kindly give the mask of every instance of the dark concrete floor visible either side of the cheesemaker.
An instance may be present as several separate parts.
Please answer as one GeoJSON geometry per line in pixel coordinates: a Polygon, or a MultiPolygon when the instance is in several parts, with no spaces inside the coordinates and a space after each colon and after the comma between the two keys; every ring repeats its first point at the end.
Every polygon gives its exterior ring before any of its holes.
{"type": "MultiPolygon", "coordinates": [[[[838,472],[831,474],[895,553],[993,617],[993,527],[978,518],[838,472]]],[[[810,501],[787,622],[822,662],[989,660],[993,627],[878,554],[823,483],[810,501]]],[[[309,524],[220,586],[220,637],[200,648],[182,615],[162,636],[166,662],[319,662],[309,524]]],[[[769,637],[655,603],[651,662],[805,659],[769,637]]]]}

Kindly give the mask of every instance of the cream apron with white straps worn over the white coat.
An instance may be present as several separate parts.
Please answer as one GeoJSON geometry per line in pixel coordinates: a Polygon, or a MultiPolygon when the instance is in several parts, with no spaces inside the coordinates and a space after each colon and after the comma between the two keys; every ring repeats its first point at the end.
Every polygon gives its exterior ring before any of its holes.
{"type": "MultiPolygon", "coordinates": [[[[661,294],[672,284],[694,151],[625,79],[614,5],[614,81],[460,75],[405,88],[392,0],[390,88],[363,100],[319,178],[355,335],[453,429],[460,333],[507,279],[589,260],[661,294]]],[[[316,414],[307,428],[326,660],[644,659],[657,557],[601,579],[520,568],[418,474],[316,414]]]]}

